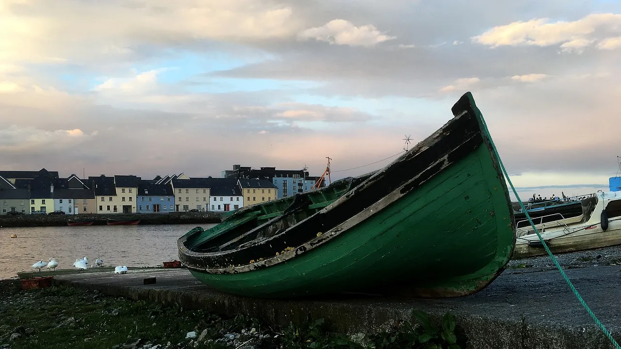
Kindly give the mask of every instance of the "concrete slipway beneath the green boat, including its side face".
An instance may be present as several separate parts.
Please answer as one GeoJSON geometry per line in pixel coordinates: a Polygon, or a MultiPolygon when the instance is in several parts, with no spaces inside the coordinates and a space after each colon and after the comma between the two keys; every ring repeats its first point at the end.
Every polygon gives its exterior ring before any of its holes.
{"type": "MultiPolygon", "coordinates": [[[[621,340],[621,273],[619,266],[566,271],[599,320],[621,340]]],[[[413,309],[432,317],[455,315],[468,348],[612,348],[604,333],[579,304],[557,270],[505,270],[473,296],[454,299],[404,299],[341,295],[314,299],[253,299],[225,294],[199,283],[185,269],[130,270],[127,274],[73,273],[55,283],[97,289],[106,294],[226,315],[247,314],[268,324],[300,322],[307,314],[324,318],[348,333],[374,332],[395,320],[411,319],[413,309]],[[155,276],[155,284],[143,279],[155,276]]]]}

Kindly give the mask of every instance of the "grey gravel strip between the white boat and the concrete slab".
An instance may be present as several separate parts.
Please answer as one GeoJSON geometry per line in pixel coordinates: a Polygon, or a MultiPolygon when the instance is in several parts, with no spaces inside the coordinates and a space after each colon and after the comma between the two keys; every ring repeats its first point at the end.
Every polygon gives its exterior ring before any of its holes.
{"type": "MultiPolygon", "coordinates": [[[[555,255],[564,269],[621,265],[621,246],[555,255]]],[[[509,261],[509,268],[556,268],[548,255],[509,261]]]]}

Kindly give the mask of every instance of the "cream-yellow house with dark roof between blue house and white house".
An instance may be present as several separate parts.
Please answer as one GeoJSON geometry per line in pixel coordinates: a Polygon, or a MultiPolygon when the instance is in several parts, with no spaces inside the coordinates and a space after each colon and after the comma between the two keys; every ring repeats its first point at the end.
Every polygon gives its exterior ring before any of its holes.
{"type": "Polygon", "coordinates": [[[187,212],[193,209],[209,211],[209,195],[211,195],[209,179],[189,178],[183,173],[170,178],[168,181],[172,183],[175,193],[175,211],[187,212]]]}

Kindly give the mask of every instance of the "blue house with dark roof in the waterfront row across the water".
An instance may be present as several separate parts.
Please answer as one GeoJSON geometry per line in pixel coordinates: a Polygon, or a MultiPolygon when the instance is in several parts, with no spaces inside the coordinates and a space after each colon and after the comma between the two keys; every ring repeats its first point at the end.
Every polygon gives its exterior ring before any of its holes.
{"type": "Polygon", "coordinates": [[[138,213],[175,212],[173,188],[170,183],[156,184],[143,179],[138,183],[136,204],[138,213]]]}

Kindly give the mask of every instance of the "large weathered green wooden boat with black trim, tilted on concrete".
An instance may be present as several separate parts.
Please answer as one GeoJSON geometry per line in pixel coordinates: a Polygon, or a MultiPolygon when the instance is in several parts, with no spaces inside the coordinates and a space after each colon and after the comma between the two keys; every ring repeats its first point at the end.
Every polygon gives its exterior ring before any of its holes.
{"type": "Polygon", "coordinates": [[[512,255],[514,212],[471,93],[452,112],[382,170],[189,231],[178,240],[181,262],[212,288],[252,297],[485,288],[512,255]]]}

